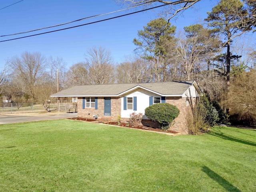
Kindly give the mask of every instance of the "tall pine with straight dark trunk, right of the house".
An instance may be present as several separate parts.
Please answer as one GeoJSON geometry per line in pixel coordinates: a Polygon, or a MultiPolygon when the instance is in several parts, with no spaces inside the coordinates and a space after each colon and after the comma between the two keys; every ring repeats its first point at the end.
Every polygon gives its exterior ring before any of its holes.
{"type": "Polygon", "coordinates": [[[215,28],[220,34],[224,33],[227,47],[226,56],[226,76],[227,84],[230,84],[230,46],[232,39],[248,29],[248,12],[240,0],[221,0],[218,5],[208,12],[205,19],[209,26],[215,28]],[[240,32],[240,33],[239,33],[240,32]]]}

